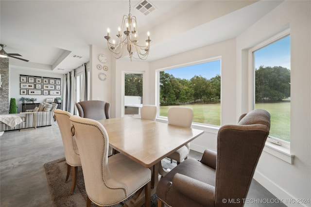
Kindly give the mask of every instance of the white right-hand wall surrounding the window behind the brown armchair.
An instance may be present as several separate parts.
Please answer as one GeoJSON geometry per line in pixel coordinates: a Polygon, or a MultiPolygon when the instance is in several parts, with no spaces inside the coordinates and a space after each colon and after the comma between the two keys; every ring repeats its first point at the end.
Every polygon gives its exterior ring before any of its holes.
{"type": "MultiPolygon", "coordinates": [[[[311,199],[311,1],[284,1],[237,38],[237,113],[249,111],[248,48],[290,28],[291,154],[290,164],[263,152],[255,179],[282,199],[311,199]]],[[[311,202],[311,201],[310,201],[311,202]]],[[[286,204],[288,206],[299,206],[286,204]]],[[[311,204],[305,204],[311,206],[311,204]]]]}

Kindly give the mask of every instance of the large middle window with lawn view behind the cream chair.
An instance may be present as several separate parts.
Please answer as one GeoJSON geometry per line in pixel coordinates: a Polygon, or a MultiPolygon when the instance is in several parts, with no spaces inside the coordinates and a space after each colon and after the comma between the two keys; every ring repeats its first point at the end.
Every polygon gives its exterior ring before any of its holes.
{"type": "Polygon", "coordinates": [[[193,122],[220,126],[220,74],[219,58],[160,71],[160,116],[172,106],[186,106],[193,109],[193,122]]]}

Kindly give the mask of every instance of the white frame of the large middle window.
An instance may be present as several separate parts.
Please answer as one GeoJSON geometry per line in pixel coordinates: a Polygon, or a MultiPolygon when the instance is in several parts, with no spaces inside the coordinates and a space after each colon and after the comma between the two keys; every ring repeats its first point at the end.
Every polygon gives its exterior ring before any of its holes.
{"type": "MultiPolygon", "coordinates": [[[[166,71],[166,70],[171,70],[171,69],[176,69],[180,67],[186,67],[190,65],[195,65],[195,64],[204,64],[207,62],[213,62],[213,61],[220,61],[220,76],[222,76],[222,56],[215,56],[212,58],[207,58],[199,61],[194,61],[190,63],[185,63],[185,64],[177,64],[165,68],[160,68],[155,70],[155,84],[156,84],[156,91],[155,91],[155,101],[156,101],[156,106],[158,109],[160,109],[160,72],[161,71],[166,71]]],[[[222,87],[222,83],[221,83],[222,87]]],[[[222,99],[222,93],[220,94],[220,97],[222,99]]],[[[157,121],[162,121],[162,122],[167,122],[167,116],[160,116],[160,110],[157,110],[156,114],[156,120],[157,121]]],[[[210,124],[204,124],[204,123],[199,123],[199,122],[192,122],[192,127],[197,128],[197,129],[202,129],[205,130],[206,132],[215,132],[215,130],[218,131],[218,129],[222,126],[222,104],[220,106],[220,126],[217,125],[210,125],[210,124]]]]}

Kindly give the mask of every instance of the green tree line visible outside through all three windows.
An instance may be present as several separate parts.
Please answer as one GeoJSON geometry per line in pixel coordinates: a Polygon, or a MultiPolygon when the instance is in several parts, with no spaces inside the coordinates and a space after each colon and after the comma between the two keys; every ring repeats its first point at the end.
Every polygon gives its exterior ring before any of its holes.
{"type": "MultiPolygon", "coordinates": [[[[290,97],[290,75],[290,70],[281,66],[256,69],[256,102],[276,102],[290,97]]],[[[195,101],[220,102],[220,88],[220,75],[211,79],[195,75],[187,80],[160,72],[161,106],[195,101]]],[[[142,74],[125,74],[125,96],[142,96],[142,74]]]]}

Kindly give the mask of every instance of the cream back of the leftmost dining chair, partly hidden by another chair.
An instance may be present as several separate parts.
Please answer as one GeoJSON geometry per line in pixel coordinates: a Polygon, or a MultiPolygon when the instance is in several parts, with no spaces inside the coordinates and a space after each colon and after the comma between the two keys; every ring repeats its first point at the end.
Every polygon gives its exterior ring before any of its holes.
{"type": "Polygon", "coordinates": [[[80,166],[81,160],[77,143],[70,133],[71,124],[69,118],[71,116],[72,114],[68,111],[63,111],[60,109],[54,110],[54,120],[57,121],[60,134],[62,136],[66,162],[70,166],[80,166]]]}

